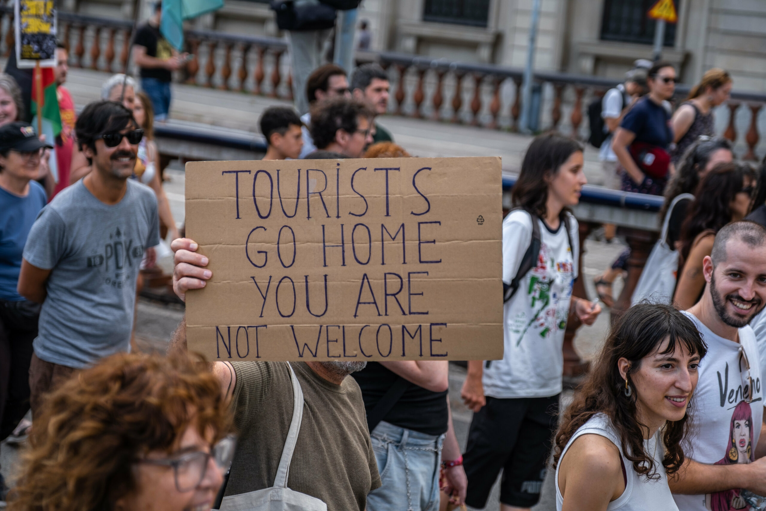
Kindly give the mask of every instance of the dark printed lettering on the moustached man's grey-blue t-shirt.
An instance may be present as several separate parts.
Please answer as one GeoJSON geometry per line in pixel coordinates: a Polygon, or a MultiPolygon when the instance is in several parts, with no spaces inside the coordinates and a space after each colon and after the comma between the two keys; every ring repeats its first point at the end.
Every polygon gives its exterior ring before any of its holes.
{"type": "Polygon", "coordinates": [[[103,251],[87,257],[87,267],[103,274],[103,283],[122,289],[129,279],[135,279],[144,254],[144,246],[125,239],[123,231],[116,228],[104,241],[103,251]]]}

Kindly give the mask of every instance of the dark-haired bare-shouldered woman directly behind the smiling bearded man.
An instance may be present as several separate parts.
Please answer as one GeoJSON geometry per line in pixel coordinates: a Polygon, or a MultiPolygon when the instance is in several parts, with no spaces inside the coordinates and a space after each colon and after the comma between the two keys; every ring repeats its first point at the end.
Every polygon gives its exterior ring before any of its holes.
{"type": "Polygon", "coordinates": [[[702,297],[702,260],[711,254],[715,234],[725,224],[748,215],[756,185],[755,171],[741,162],[716,165],[699,183],[681,227],[678,283],[673,294],[679,309],[689,309],[702,297]]]}

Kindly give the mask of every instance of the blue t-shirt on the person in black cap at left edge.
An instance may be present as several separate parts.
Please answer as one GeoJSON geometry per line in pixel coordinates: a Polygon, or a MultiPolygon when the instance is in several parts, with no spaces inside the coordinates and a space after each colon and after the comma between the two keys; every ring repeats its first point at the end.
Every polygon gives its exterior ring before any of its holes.
{"type": "Polygon", "coordinates": [[[45,191],[36,181],[29,182],[26,197],[0,188],[0,300],[24,300],[16,291],[21,254],[34,219],[38,218],[46,202],[45,191]]]}

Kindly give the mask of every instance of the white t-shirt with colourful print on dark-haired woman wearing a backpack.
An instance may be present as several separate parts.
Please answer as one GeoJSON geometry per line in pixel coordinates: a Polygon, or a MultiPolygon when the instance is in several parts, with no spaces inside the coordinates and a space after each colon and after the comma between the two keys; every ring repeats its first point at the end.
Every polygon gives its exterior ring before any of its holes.
{"type": "MultiPolygon", "coordinates": [[[[484,394],[493,398],[547,398],[561,392],[561,346],[577,277],[578,223],[570,215],[569,246],[564,222],[552,231],[539,218],[540,254],[519,290],[503,306],[502,360],[484,369],[484,394]]],[[[502,280],[511,283],[532,241],[532,218],[512,211],[502,221],[502,280]]]]}

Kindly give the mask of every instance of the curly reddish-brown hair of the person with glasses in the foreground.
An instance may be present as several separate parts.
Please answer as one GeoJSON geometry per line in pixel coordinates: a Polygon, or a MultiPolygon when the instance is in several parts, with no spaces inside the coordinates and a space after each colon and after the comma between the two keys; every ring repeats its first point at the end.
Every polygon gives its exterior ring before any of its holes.
{"type": "Polygon", "coordinates": [[[185,355],[121,353],[51,394],[29,437],[9,511],[107,511],[136,490],[133,464],[170,453],[195,427],[218,441],[231,423],[218,379],[185,355]]]}

